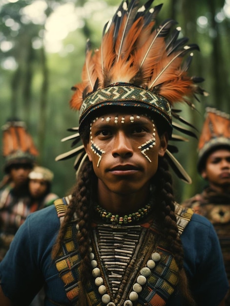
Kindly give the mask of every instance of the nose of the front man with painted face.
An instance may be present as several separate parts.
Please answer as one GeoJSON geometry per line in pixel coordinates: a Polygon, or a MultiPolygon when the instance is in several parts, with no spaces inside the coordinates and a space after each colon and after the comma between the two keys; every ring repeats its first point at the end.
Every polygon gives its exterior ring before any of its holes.
{"type": "Polygon", "coordinates": [[[114,147],[112,150],[113,157],[122,156],[130,157],[133,155],[133,148],[130,139],[124,131],[119,131],[114,136],[114,147]]]}

